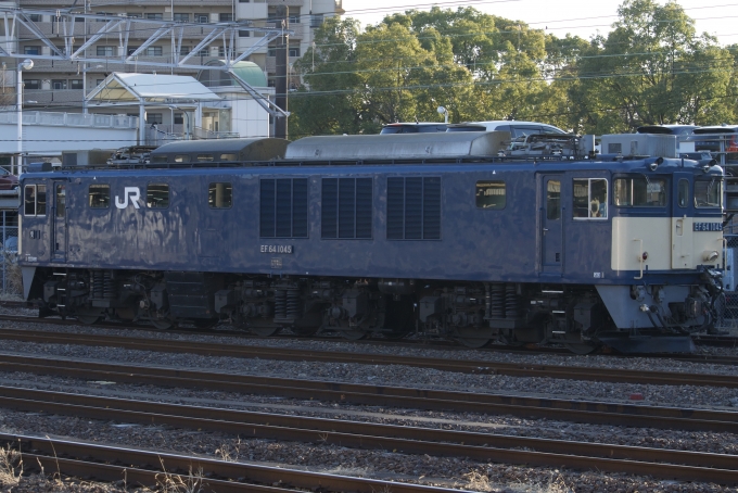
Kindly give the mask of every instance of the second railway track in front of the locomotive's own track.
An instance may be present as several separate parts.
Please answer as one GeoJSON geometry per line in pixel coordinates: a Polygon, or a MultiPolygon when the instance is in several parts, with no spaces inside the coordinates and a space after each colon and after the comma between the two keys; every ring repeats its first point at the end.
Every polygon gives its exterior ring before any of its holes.
{"type": "Polygon", "coordinates": [[[278,395],[288,399],[332,401],[344,404],[513,415],[524,418],[547,418],[637,428],[738,433],[738,413],[722,410],[365,385],[3,354],[0,354],[0,371],[51,375],[86,381],[103,380],[256,395],[278,395]]]}

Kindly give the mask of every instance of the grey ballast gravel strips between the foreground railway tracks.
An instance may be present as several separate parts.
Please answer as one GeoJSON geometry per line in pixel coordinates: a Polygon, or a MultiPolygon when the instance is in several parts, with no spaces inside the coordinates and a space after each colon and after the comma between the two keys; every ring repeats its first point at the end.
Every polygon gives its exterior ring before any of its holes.
{"type": "MultiPolygon", "coordinates": [[[[11,327],[7,324],[5,327],[11,327]]],[[[428,347],[354,344],[331,340],[255,340],[231,334],[180,334],[145,330],[100,329],[94,327],[59,327],[53,325],[26,325],[13,328],[74,331],[76,333],[115,334],[137,338],[174,339],[224,344],[249,344],[280,347],[305,347],[323,351],[377,352],[407,354],[454,359],[487,359],[523,362],[546,365],[583,367],[631,368],[642,371],[690,371],[734,375],[725,365],[696,364],[660,358],[619,358],[607,355],[562,356],[525,355],[519,353],[489,353],[480,351],[445,351],[428,347]]],[[[2,353],[26,355],[53,355],[72,359],[102,361],[143,366],[183,367],[207,371],[238,372],[282,378],[319,379],[352,383],[371,383],[467,392],[489,392],[520,395],[546,395],[631,402],[628,396],[641,393],[649,405],[680,407],[727,408],[734,410],[733,400],[738,390],[705,387],[666,387],[589,381],[556,380],[548,378],[517,378],[491,375],[455,374],[428,368],[406,366],[377,366],[359,364],[326,364],[309,362],[282,362],[232,357],[205,357],[171,353],[131,351],[115,347],[75,346],[64,344],[34,344],[3,341],[2,353]]],[[[736,354],[721,350],[715,354],[736,354]]],[[[520,437],[585,442],[614,443],[648,447],[738,454],[738,437],[727,433],[688,432],[673,430],[635,429],[546,419],[522,419],[510,416],[487,416],[472,413],[420,412],[368,406],[339,405],[314,401],[295,401],[265,396],[240,395],[188,389],[164,389],[154,385],[129,385],[110,382],[85,382],[54,377],[24,374],[0,374],[0,384],[29,387],[44,390],[115,395],[124,399],[173,402],[189,405],[241,408],[267,413],[295,414],[422,426],[456,430],[482,431],[520,437]]],[[[631,402],[633,403],[633,402],[631,402]]],[[[636,478],[628,475],[577,472],[554,468],[529,468],[504,464],[483,464],[467,458],[413,456],[390,452],[359,451],[334,445],[276,442],[269,440],[240,440],[224,433],[196,432],[128,424],[90,421],[65,416],[39,416],[0,409],[0,431],[46,435],[53,431],[58,437],[136,446],[142,448],[198,454],[208,457],[238,459],[281,467],[306,468],[325,472],[365,476],[376,479],[419,482],[442,488],[494,492],[736,492],[733,486],[705,483],[662,481],[636,478]]],[[[75,481],[55,481],[48,478],[23,478],[17,485],[3,484],[3,491],[119,491],[119,486],[99,485],[75,481]],[[12,486],[12,488],[9,488],[12,486]]]]}

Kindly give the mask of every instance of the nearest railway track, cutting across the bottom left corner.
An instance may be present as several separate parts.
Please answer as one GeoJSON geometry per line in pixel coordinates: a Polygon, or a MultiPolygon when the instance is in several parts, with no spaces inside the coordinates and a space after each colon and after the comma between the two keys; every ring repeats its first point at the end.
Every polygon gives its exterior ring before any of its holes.
{"type": "MultiPolygon", "coordinates": [[[[309,472],[281,467],[234,463],[204,457],[141,451],[68,440],[0,434],[0,442],[21,448],[24,468],[126,484],[162,484],[167,477],[188,479],[198,473],[206,491],[218,493],[294,492],[297,489],[326,492],[440,493],[451,490],[421,484],[309,472]],[[37,466],[37,459],[40,463],[37,466]]],[[[459,490],[453,490],[458,492],[459,490]]]]}

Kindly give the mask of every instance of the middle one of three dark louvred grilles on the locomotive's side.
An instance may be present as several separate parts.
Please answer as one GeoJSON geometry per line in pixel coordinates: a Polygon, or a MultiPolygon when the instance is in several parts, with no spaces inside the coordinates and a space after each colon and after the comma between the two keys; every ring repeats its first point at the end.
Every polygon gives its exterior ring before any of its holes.
{"type": "Polygon", "coordinates": [[[323,178],[320,236],[371,239],[371,178],[323,178]]]}

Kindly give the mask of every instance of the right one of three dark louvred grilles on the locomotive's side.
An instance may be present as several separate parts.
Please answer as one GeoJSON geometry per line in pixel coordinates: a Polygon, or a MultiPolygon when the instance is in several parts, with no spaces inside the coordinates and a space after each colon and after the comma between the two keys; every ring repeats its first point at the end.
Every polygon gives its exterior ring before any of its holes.
{"type": "Polygon", "coordinates": [[[441,178],[387,178],[387,240],[441,239],[441,178]]]}

